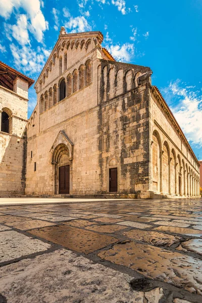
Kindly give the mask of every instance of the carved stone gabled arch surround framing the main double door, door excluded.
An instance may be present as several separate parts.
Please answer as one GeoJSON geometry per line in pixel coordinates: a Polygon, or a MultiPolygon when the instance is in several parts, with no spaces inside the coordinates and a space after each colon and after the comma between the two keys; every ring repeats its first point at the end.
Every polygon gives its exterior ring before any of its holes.
{"type": "Polygon", "coordinates": [[[53,165],[53,191],[59,193],[59,167],[70,166],[70,194],[72,193],[72,161],[73,161],[73,143],[63,130],[56,137],[50,150],[51,164],[53,165]]]}

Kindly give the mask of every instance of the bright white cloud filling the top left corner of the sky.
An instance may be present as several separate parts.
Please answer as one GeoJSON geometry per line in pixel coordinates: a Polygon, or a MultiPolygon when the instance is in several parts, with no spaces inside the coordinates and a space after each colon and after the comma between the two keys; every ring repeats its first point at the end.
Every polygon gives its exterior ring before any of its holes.
{"type": "Polygon", "coordinates": [[[39,0],[1,0],[0,1],[0,16],[9,19],[14,10],[23,9],[26,12],[27,20],[29,21],[29,30],[35,36],[38,42],[43,39],[43,32],[48,29],[48,23],[40,10],[43,3],[39,0]]]}

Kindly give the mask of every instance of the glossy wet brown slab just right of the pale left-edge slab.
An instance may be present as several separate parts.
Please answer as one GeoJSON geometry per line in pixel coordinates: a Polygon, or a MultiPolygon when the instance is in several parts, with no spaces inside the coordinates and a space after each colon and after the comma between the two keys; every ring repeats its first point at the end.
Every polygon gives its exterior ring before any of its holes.
{"type": "Polygon", "coordinates": [[[71,226],[53,226],[29,231],[30,234],[63,245],[85,255],[118,242],[118,239],[71,226]]]}

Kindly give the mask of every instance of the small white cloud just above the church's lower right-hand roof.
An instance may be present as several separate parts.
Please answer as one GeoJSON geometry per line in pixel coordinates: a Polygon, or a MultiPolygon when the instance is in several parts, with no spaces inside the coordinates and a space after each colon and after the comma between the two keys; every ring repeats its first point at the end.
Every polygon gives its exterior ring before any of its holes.
{"type": "Polygon", "coordinates": [[[134,45],[131,43],[124,43],[123,45],[115,44],[107,46],[112,56],[120,62],[130,62],[134,55],[134,45]]]}

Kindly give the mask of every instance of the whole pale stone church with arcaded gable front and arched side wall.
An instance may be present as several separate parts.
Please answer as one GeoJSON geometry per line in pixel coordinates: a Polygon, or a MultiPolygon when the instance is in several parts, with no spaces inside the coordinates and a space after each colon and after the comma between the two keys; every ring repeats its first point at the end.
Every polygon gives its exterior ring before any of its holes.
{"type": "MultiPolygon", "coordinates": [[[[35,83],[37,105],[29,121],[21,122],[17,193],[199,196],[199,163],[160,91],[151,85],[150,68],[116,62],[102,41],[98,31],[67,34],[61,28],[35,83]]],[[[1,84],[0,100],[2,91],[4,103],[1,84]]],[[[12,105],[3,105],[2,111],[5,107],[12,105]]],[[[26,115],[27,103],[24,107],[26,115]]],[[[0,171],[0,195],[9,173],[8,168],[0,171]]]]}

